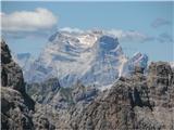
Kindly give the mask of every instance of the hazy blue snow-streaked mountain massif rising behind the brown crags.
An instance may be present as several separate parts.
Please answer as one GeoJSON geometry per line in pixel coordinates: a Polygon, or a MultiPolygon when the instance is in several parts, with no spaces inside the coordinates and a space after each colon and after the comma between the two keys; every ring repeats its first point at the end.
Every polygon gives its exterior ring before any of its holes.
{"type": "Polygon", "coordinates": [[[140,52],[128,58],[116,36],[104,30],[84,32],[60,30],[53,34],[40,55],[18,54],[15,61],[27,82],[59,78],[62,87],[80,80],[85,86],[110,86],[135,66],[147,67],[148,56],[140,52]]]}

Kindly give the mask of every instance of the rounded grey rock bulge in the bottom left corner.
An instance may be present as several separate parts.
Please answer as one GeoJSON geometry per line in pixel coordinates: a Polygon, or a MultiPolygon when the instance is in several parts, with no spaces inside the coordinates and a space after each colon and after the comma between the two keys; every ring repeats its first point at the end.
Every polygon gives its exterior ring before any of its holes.
{"type": "Polygon", "coordinates": [[[10,88],[1,88],[1,128],[33,129],[32,110],[28,109],[24,96],[10,88]]]}

